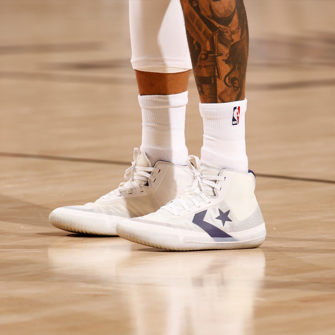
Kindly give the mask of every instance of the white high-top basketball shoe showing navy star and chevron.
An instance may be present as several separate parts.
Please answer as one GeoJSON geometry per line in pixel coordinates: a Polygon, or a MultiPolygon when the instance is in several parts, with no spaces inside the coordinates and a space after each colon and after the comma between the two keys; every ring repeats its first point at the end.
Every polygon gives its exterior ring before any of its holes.
{"type": "Polygon", "coordinates": [[[257,203],[255,176],[188,161],[193,184],[184,195],[156,212],[125,219],[119,236],[146,246],[169,250],[256,248],[266,229],[257,203]]]}

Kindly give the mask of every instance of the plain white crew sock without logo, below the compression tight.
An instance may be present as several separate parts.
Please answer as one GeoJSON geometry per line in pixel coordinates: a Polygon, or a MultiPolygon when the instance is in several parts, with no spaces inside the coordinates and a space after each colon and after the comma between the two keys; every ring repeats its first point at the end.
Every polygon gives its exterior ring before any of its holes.
{"type": "Polygon", "coordinates": [[[158,160],[186,165],[185,113],[188,92],[139,95],[142,108],[142,145],[153,166],[158,160]]]}

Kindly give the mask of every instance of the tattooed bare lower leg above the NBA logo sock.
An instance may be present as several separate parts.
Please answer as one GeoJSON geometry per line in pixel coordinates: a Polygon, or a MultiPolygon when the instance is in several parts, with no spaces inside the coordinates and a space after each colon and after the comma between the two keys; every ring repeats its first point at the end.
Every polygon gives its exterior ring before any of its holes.
{"type": "Polygon", "coordinates": [[[202,103],[244,99],[248,23],[243,0],[180,0],[202,103]]]}

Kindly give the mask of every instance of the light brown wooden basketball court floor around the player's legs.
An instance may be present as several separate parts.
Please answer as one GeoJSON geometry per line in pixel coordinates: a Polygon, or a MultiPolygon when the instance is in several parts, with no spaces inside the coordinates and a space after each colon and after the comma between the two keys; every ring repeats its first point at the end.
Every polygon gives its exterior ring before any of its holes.
{"type": "MultiPolygon", "coordinates": [[[[140,145],[127,1],[0,1],[1,334],[335,334],[334,1],[246,1],[258,249],[166,252],[48,223],[140,145]]],[[[186,137],[202,121],[189,82],[186,137]]]]}

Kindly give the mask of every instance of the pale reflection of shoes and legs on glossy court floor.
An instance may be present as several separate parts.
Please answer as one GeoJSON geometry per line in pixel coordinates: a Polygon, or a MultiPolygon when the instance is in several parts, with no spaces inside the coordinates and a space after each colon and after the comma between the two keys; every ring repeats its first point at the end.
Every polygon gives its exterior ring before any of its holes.
{"type": "Polygon", "coordinates": [[[48,256],[57,277],[119,294],[111,304],[121,298],[114,308],[125,309],[131,334],[252,333],[265,272],[261,249],[175,253],[116,243],[50,247],[48,256]]]}

